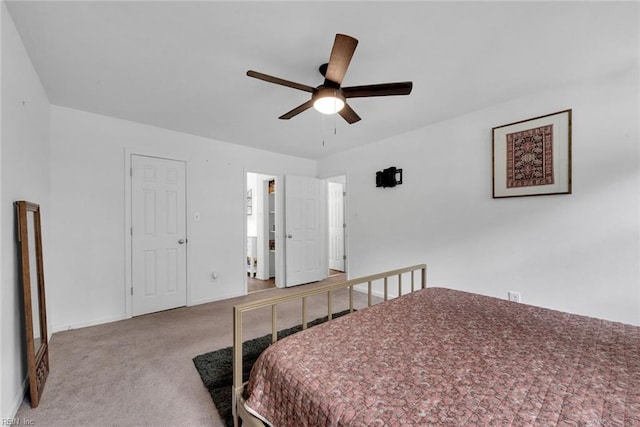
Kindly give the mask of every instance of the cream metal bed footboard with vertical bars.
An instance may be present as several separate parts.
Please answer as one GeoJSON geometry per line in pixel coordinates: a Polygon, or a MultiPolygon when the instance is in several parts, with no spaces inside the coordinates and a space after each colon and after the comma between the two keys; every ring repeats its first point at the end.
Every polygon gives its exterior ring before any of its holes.
{"type": "Polygon", "coordinates": [[[314,287],[312,289],[301,289],[286,295],[265,298],[258,301],[247,302],[233,307],[233,423],[238,427],[240,419],[243,426],[262,427],[264,424],[258,418],[250,414],[244,407],[242,396],[244,384],[242,382],[242,315],[245,312],[259,308],[271,307],[271,342],[278,339],[278,305],[287,301],[300,300],[302,310],[302,328],[307,328],[307,298],[312,295],[327,294],[327,316],[331,320],[333,315],[332,293],[340,289],[349,289],[349,310],[354,310],[353,292],[358,285],[366,285],[367,304],[373,305],[373,284],[383,282],[382,298],[386,301],[389,298],[389,279],[397,277],[397,296],[404,293],[413,292],[417,289],[424,289],[427,286],[427,266],[418,264],[411,267],[386,271],[384,273],[360,277],[340,283],[327,284],[325,286],[314,287]],[[416,274],[417,272],[417,274],[416,274]],[[403,277],[409,277],[410,291],[408,285],[403,285],[403,277]],[[416,278],[416,276],[419,276],[416,278]],[[419,282],[418,282],[419,280],[419,282]]]}

